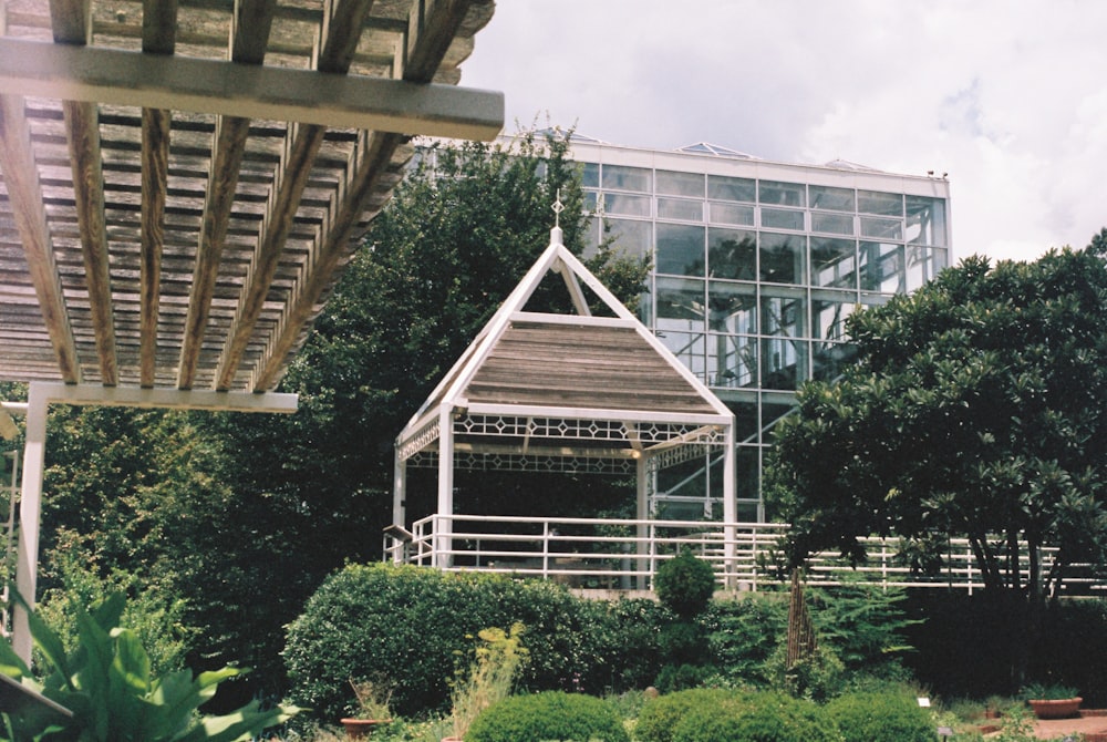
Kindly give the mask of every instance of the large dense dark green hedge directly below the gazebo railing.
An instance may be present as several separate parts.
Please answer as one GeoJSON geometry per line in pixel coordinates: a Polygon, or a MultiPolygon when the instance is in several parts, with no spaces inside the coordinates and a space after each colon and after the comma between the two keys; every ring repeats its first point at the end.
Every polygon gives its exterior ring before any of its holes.
{"type": "Polygon", "coordinates": [[[658,624],[651,621],[663,615],[646,602],[583,600],[547,581],[351,565],[327,579],[289,628],[291,697],[332,720],[352,703],[350,678],[383,674],[394,683],[397,713],[444,710],[457,652],[472,647],[479,630],[515,622],[526,627],[523,688],[601,693],[641,687],[656,672],[651,639],[658,624]]]}

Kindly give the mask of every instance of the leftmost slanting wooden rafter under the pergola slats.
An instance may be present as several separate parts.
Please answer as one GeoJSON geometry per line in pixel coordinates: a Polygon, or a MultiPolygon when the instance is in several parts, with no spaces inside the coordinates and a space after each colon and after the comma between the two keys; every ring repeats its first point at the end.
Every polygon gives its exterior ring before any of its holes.
{"type": "Polygon", "coordinates": [[[42,320],[66,383],[80,383],[81,365],[70,327],[61,277],[46,224],[46,210],[34,165],[23,99],[0,95],[0,172],[3,173],[12,218],[19,229],[42,320]]]}

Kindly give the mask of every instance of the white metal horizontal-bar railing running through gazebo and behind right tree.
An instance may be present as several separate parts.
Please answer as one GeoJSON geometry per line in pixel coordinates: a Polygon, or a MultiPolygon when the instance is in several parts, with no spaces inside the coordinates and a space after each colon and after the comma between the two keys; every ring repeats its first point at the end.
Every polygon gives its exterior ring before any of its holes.
{"type": "MultiPolygon", "coordinates": [[[[390,527],[384,558],[447,570],[540,577],[576,588],[644,590],[650,589],[658,566],[687,547],[711,563],[722,588],[758,590],[783,585],[777,565],[779,539],[787,528],[779,523],[432,515],[417,521],[411,532],[390,527]]],[[[837,554],[819,554],[808,563],[808,583],[835,585],[848,574],[851,580],[870,585],[969,592],[984,587],[963,538],[950,539],[942,569],[934,575],[913,574],[897,558],[894,540],[863,542],[868,549],[863,565],[851,568],[837,554]]],[[[1042,549],[1043,570],[1049,569],[1053,554],[1054,549],[1042,549]]],[[[1025,550],[1020,569],[1025,579],[1025,550]]],[[[1107,580],[1086,565],[1070,568],[1065,584],[1074,594],[1107,589],[1107,580]]]]}

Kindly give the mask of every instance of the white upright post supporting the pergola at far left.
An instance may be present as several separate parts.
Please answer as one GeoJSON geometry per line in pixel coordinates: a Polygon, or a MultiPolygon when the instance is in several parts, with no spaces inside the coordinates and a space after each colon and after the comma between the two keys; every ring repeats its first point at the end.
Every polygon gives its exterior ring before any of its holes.
{"type": "MultiPolygon", "coordinates": [[[[27,393],[27,444],[23,447],[23,489],[19,503],[19,547],[15,552],[15,589],[34,607],[39,573],[39,522],[42,514],[42,473],[46,450],[46,409],[44,388],[31,382],[27,393]]],[[[27,612],[15,608],[12,615],[12,648],[31,663],[31,631],[27,612]]]]}

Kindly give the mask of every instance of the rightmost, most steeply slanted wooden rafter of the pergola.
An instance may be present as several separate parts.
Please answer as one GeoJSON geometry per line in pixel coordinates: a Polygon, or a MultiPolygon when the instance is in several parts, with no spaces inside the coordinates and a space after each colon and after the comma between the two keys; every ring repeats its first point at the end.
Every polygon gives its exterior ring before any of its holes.
{"type": "MultiPolygon", "coordinates": [[[[403,49],[406,55],[397,64],[396,74],[408,82],[433,80],[442,59],[458,29],[466,21],[473,0],[413,2],[408,34],[403,49]]],[[[348,183],[344,198],[334,209],[325,231],[319,238],[320,248],[314,260],[309,264],[307,276],[296,287],[296,293],[281,316],[280,326],[272,342],[266,349],[259,371],[251,387],[254,391],[266,391],[280,381],[284,362],[300,342],[304,324],[317,313],[318,303],[330,288],[334,271],[352,249],[351,240],[358,220],[369,206],[389,167],[396,150],[407,141],[406,136],[373,132],[365,146],[359,147],[360,162],[352,163],[354,173],[348,183]]]]}

